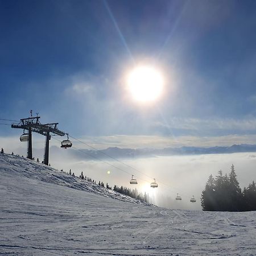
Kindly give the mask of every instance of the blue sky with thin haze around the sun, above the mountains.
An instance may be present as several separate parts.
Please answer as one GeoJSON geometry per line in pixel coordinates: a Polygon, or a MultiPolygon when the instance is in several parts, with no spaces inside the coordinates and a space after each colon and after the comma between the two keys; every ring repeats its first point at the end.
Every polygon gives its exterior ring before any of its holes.
{"type": "MultiPolygon", "coordinates": [[[[77,138],[250,142],[255,31],[249,0],[0,0],[0,118],[33,109],[77,138]],[[141,63],[166,79],[164,95],[147,106],[125,90],[125,74],[141,63]]],[[[18,133],[0,126],[1,136],[18,133]]]]}

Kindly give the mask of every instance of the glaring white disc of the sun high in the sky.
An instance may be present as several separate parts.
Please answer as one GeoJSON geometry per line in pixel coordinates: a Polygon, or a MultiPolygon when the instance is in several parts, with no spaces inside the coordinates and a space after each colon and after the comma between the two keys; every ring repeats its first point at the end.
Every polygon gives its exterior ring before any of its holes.
{"type": "Polygon", "coordinates": [[[163,77],[152,67],[137,67],[128,76],[128,88],[140,102],[155,101],[163,90],[163,77]]]}

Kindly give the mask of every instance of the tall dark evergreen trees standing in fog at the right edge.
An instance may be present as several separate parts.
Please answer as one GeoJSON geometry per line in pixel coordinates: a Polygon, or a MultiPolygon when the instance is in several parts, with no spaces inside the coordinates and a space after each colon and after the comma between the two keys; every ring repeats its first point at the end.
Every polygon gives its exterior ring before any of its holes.
{"type": "Polygon", "coordinates": [[[201,194],[201,206],[203,210],[229,212],[256,210],[255,182],[253,181],[241,191],[236,171],[232,164],[229,175],[223,175],[220,170],[215,179],[212,175],[209,176],[201,194]]]}

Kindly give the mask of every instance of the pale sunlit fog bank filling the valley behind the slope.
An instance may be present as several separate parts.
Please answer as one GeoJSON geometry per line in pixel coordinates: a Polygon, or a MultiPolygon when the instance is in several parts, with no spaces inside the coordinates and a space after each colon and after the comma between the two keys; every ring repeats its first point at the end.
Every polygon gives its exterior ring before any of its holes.
{"type": "Polygon", "coordinates": [[[136,188],[148,193],[152,203],[172,209],[201,209],[201,191],[209,175],[216,176],[219,170],[229,174],[232,164],[236,168],[241,188],[247,187],[251,181],[256,180],[254,174],[256,154],[253,153],[162,156],[123,162],[134,168],[129,168],[120,162],[81,161],[68,159],[67,156],[65,160],[52,160],[52,166],[64,168],[64,171],[69,171],[71,168],[77,176],[83,171],[84,175],[96,179],[97,182],[100,180],[105,184],[108,183],[112,187],[116,184],[134,188],[129,183],[130,174],[133,174],[138,179],[136,188]],[[158,188],[150,188],[153,178],[156,179],[158,188]],[[175,200],[177,193],[182,197],[181,201],[175,200]],[[196,197],[196,203],[190,203],[192,196],[196,197]]]}

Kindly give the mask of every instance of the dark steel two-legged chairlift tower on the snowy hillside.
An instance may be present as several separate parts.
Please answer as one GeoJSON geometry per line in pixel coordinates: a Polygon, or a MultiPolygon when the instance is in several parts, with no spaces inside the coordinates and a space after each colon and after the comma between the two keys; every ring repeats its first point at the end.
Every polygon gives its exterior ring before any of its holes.
{"type": "MultiPolygon", "coordinates": [[[[32,114],[31,114],[32,115],[32,114]]],[[[19,123],[13,123],[12,128],[28,130],[28,143],[27,143],[27,158],[32,159],[32,132],[39,133],[46,136],[46,146],[44,148],[44,164],[49,164],[49,140],[51,139],[50,133],[64,136],[65,133],[57,129],[59,123],[46,123],[42,125],[39,122],[40,117],[29,117],[20,119],[19,123]]]]}

